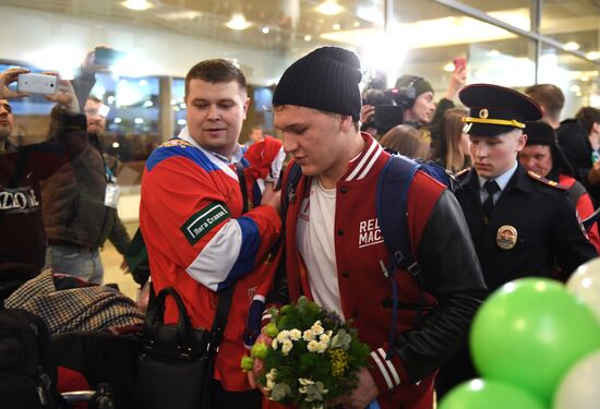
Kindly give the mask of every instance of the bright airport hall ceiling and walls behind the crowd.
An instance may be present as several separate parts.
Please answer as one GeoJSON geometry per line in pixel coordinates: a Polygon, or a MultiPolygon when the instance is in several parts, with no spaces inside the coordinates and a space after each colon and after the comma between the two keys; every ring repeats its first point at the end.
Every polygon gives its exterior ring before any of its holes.
{"type": "MultiPolygon", "coordinates": [[[[274,85],[290,62],[323,45],[360,56],[363,87],[375,77],[391,87],[409,73],[427,77],[439,99],[453,59],[466,57],[467,83],[553,83],[566,96],[563,118],[600,108],[598,0],[0,0],[0,70],[70,77],[95,46],[122,51],[92,94],[110,108],[103,145],[124,164],[119,214],[131,232],[144,160],[185,125],[183,77],[203,59],[232,59],[249,80],[241,143],[253,125],[274,134],[274,85]]],[[[13,142],[44,140],[50,109],[41,97],[15,100],[13,142]]],[[[135,297],[111,244],[101,256],[105,281],[135,297]]]]}

